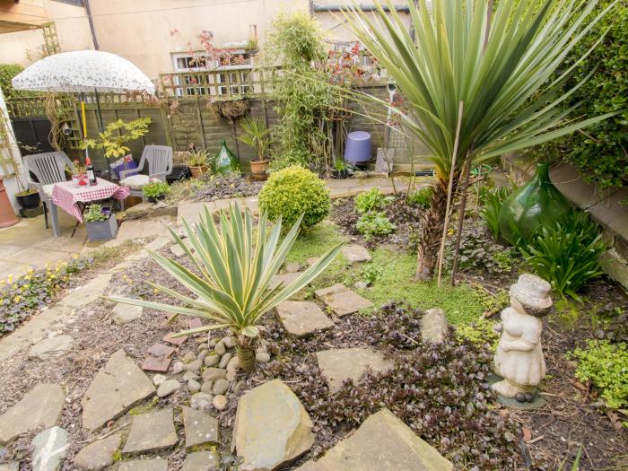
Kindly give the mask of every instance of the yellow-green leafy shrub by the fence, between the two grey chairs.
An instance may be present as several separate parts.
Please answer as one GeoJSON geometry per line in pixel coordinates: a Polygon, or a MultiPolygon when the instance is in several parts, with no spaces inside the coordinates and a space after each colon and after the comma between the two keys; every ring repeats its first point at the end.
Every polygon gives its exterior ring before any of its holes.
{"type": "Polygon", "coordinates": [[[153,122],[150,117],[137,118],[125,122],[122,119],[112,121],[105,130],[99,133],[100,138],[85,139],[81,149],[100,149],[108,159],[124,157],[131,149],[126,145],[148,134],[148,126],[153,122]]]}

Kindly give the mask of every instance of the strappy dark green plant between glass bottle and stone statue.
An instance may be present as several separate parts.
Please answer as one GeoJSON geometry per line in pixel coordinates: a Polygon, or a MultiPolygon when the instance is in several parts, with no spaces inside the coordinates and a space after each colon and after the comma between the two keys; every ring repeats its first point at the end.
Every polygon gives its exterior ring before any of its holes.
{"type": "Polygon", "coordinates": [[[573,211],[564,221],[540,228],[519,250],[536,275],[552,284],[563,298],[576,294],[589,280],[602,275],[598,258],[606,249],[597,224],[589,215],[573,211]]]}

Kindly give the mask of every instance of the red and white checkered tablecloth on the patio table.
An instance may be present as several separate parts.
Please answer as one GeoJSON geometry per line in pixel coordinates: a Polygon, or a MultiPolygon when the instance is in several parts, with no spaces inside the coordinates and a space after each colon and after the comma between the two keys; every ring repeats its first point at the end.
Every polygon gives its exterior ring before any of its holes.
{"type": "MultiPolygon", "coordinates": [[[[96,185],[80,186],[74,181],[64,181],[55,183],[52,187],[52,202],[65,213],[73,215],[79,222],[83,222],[83,214],[77,203],[90,203],[114,197],[116,199],[125,199],[130,191],[129,188],[120,187],[115,183],[103,179],[96,179],[96,185]]],[[[48,187],[48,186],[47,186],[48,187]]],[[[44,191],[46,191],[44,187],[44,191]]]]}

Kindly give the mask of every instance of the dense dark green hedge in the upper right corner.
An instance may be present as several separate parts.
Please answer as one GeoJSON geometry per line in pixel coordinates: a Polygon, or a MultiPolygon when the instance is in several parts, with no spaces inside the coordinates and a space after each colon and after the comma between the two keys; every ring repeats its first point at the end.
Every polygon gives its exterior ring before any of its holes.
{"type": "MultiPolygon", "coordinates": [[[[611,0],[602,0],[595,13],[602,12],[611,0]]],[[[585,133],[573,133],[531,150],[537,158],[570,161],[580,175],[600,188],[623,187],[628,181],[628,2],[620,1],[612,13],[598,22],[593,30],[571,51],[567,64],[593,47],[606,33],[589,58],[576,65],[573,76],[562,85],[570,90],[576,83],[593,75],[564,103],[564,108],[580,103],[570,118],[594,116],[621,111],[621,114],[591,126],[585,133]]]]}

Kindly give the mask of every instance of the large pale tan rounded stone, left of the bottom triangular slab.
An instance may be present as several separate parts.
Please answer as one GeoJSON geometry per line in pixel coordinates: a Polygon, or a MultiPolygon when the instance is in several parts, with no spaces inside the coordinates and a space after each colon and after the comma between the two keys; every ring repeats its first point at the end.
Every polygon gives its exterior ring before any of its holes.
{"type": "Polygon", "coordinates": [[[275,379],[240,397],[231,447],[241,471],[272,470],[300,457],[314,443],[312,421],[299,398],[275,379]]]}

